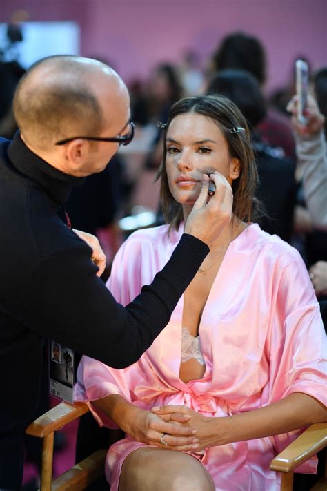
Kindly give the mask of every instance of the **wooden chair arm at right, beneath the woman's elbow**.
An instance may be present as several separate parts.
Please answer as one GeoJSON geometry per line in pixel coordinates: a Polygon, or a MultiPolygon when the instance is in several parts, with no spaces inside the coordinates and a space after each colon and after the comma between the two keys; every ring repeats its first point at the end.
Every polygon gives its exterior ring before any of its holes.
{"type": "Polygon", "coordinates": [[[292,472],[327,445],[327,423],[315,423],[273,459],[270,469],[292,472]]]}

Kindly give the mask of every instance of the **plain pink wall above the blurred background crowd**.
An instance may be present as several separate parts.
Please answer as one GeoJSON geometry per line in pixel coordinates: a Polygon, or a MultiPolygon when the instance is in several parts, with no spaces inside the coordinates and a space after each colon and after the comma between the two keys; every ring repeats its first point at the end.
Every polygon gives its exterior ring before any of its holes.
{"type": "Polygon", "coordinates": [[[290,74],[296,55],[327,64],[326,0],[1,0],[0,21],[25,8],[31,21],[75,20],[81,54],[110,59],[124,79],[146,77],[157,61],[188,47],[201,59],[233,30],[258,36],[268,55],[268,88],[290,74]]]}

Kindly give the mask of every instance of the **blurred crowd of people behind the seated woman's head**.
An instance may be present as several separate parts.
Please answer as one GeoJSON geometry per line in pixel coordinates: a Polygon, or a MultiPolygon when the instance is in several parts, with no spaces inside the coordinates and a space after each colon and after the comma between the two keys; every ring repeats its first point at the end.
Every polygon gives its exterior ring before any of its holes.
{"type": "Polygon", "coordinates": [[[310,74],[307,117],[317,117],[320,123],[306,134],[292,115],[296,104],[295,68],[290,67],[288,84],[267,96],[266,57],[259,39],[235,32],[219,42],[202,65],[190,50],[179,64],[158,64],[148,80],[130,84],[137,137],[121,155],[127,168],[120,213],[135,213],[135,220],[128,221],[127,232],[138,228],[137,217],[144,208],[154,213],[153,224],[161,223],[158,188],[153,184],[163,155],[157,122],[166,121],[168,108],[181,97],[226,95],[241,109],[252,131],[260,179],[257,199],[261,215],[257,222],[299,249],[317,296],[322,299],[327,295],[327,164],[322,142],[326,139],[327,66],[310,74]],[[316,162],[320,173],[313,169],[316,162]],[[313,186],[310,191],[308,186],[313,186]]]}

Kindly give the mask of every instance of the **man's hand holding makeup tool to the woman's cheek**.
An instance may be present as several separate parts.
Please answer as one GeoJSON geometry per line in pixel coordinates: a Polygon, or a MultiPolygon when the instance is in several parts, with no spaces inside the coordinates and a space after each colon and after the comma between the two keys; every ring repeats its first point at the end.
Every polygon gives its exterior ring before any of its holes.
{"type": "Polygon", "coordinates": [[[184,230],[209,247],[232,218],[232,188],[228,181],[217,171],[210,174],[210,180],[215,182],[215,194],[208,196],[209,177],[204,174],[199,198],[188,215],[184,230]]]}

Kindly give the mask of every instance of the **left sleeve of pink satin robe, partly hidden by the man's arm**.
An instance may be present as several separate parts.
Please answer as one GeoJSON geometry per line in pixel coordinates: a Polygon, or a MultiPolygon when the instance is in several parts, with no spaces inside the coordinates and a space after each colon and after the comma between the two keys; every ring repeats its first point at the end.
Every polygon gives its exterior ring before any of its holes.
{"type": "MultiPolygon", "coordinates": [[[[122,305],[127,305],[141,291],[143,249],[147,249],[146,240],[126,240],[112,263],[107,287],[115,300],[122,305]]],[[[135,372],[137,363],[126,369],[115,369],[88,356],[82,356],[77,370],[74,399],[88,403],[100,426],[116,428],[117,425],[92,405],[92,401],[110,394],[119,394],[131,402],[130,381],[136,376],[135,372]]]]}

